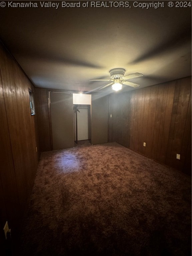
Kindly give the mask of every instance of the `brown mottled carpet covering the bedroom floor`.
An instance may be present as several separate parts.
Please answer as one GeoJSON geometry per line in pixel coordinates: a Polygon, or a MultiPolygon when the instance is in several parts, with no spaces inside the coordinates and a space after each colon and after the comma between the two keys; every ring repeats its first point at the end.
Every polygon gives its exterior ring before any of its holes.
{"type": "Polygon", "coordinates": [[[191,255],[191,178],[117,143],[42,153],[18,255],[191,255]]]}

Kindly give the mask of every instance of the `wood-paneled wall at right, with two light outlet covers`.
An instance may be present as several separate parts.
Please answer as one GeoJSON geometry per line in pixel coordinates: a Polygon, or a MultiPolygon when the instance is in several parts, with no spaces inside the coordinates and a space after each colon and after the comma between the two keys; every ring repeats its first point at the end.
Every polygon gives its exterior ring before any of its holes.
{"type": "Polygon", "coordinates": [[[191,174],[191,77],[113,94],[109,109],[110,142],[191,174]]]}

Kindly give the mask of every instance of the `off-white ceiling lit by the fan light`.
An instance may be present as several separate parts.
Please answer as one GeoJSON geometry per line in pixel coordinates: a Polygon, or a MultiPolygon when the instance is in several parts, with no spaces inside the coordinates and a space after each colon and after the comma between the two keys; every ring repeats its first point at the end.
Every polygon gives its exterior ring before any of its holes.
{"type": "Polygon", "coordinates": [[[191,75],[191,8],[169,8],[168,1],[158,9],[136,8],[134,1],[131,8],[53,2],[58,9],[40,1],[38,8],[0,8],[0,38],[35,86],[97,91],[107,83],[89,80],[110,78],[112,68],[142,73],[130,80],[139,88],[191,75]]]}

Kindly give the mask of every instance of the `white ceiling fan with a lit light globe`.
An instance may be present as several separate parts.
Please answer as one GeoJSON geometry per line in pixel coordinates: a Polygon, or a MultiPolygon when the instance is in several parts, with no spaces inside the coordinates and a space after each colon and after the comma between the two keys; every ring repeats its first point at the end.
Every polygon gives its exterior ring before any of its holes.
{"type": "Polygon", "coordinates": [[[89,81],[111,81],[109,84],[99,88],[99,90],[104,89],[105,87],[107,87],[109,85],[112,85],[113,90],[119,91],[119,90],[121,90],[122,85],[138,87],[139,84],[129,82],[128,80],[132,79],[132,78],[143,76],[141,73],[134,73],[131,75],[124,76],[124,74],[125,74],[124,68],[114,68],[114,69],[111,69],[109,72],[110,72],[111,79],[92,79],[89,81]]]}

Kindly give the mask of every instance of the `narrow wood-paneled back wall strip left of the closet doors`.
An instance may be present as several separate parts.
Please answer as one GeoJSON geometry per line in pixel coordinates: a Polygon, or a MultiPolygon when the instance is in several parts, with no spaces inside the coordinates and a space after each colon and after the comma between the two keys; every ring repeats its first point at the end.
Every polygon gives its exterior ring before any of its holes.
{"type": "Polygon", "coordinates": [[[51,120],[49,120],[48,90],[35,88],[40,152],[52,150],[51,120]]]}

